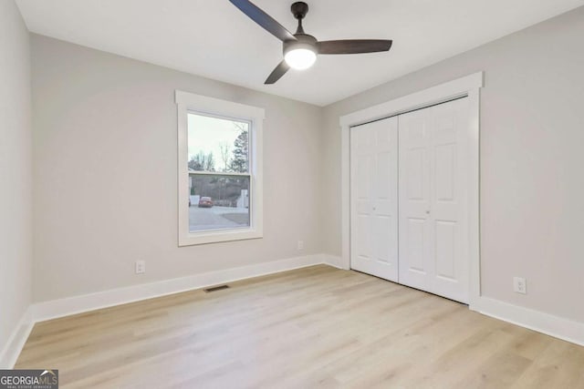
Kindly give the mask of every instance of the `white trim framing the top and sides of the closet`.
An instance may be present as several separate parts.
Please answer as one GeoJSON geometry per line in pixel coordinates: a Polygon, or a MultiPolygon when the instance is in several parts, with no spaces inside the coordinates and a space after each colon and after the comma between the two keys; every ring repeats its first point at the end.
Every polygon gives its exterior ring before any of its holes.
{"type": "Polygon", "coordinates": [[[350,268],[350,141],[349,128],[381,118],[388,118],[412,109],[429,107],[455,97],[468,96],[470,105],[469,159],[469,247],[470,301],[474,310],[481,295],[480,278],[480,235],[479,235],[479,109],[480,88],[484,86],[483,72],[454,79],[435,87],[429,87],[404,97],[361,109],[340,117],[341,129],[341,266],[350,268]]]}

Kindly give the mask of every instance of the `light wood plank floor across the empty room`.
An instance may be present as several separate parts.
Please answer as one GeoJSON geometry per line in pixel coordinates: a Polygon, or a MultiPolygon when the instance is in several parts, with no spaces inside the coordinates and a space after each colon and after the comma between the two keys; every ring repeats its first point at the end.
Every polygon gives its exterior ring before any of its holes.
{"type": "Polygon", "coordinates": [[[37,323],[62,388],[580,388],[584,347],[315,266],[37,323]]]}

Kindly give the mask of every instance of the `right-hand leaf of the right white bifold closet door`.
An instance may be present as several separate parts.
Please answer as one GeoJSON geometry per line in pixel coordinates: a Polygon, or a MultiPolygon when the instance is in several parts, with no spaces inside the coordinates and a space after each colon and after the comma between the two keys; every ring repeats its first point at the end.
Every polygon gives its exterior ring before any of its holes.
{"type": "Polygon", "coordinates": [[[432,110],[432,292],[468,302],[468,98],[432,110]]]}

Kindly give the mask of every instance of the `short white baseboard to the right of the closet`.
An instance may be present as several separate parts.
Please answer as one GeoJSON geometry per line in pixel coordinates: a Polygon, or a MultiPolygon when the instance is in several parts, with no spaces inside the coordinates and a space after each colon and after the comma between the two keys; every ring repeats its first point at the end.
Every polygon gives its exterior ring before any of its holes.
{"type": "Polygon", "coordinates": [[[538,333],[545,333],[571,343],[584,345],[584,323],[582,322],[574,322],[546,312],[535,311],[484,296],[479,297],[471,309],[538,333]]]}

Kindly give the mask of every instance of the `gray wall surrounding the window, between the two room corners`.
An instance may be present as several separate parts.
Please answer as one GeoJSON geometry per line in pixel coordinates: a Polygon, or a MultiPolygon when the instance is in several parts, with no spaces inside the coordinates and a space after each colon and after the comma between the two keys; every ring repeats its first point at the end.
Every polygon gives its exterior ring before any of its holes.
{"type": "Polygon", "coordinates": [[[322,252],[321,108],[45,36],[32,63],[36,302],[322,252]],[[174,89],[266,108],[264,239],[177,247],[174,89]]]}

